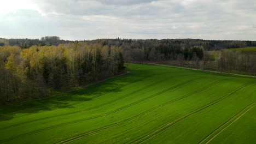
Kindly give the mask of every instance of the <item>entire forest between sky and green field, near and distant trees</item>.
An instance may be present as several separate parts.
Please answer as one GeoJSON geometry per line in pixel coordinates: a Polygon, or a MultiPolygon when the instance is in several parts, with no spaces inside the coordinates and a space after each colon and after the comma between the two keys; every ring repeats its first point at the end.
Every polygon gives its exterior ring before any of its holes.
{"type": "Polygon", "coordinates": [[[124,62],[151,62],[254,75],[254,52],[229,51],[256,41],[200,39],[0,39],[1,104],[42,98],[124,71],[124,62]]]}

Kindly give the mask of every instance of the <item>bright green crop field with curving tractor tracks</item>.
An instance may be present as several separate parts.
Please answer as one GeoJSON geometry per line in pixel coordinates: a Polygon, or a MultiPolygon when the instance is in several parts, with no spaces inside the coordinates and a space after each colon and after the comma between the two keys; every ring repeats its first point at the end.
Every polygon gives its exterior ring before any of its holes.
{"type": "Polygon", "coordinates": [[[255,79],[158,65],[129,71],[1,107],[0,143],[255,143],[255,79]]]}

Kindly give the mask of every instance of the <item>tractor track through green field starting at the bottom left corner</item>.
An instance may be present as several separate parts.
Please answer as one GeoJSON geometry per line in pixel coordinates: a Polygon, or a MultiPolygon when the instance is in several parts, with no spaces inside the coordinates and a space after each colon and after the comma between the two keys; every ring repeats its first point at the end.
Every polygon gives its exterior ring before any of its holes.
{"type": "Polygon", "coordinates": [[[157,95],[159,95],[159,94],[162,94],[162,93],[165,93],[165,92],[167,92],[167,91],[170,91],[171,89],[174,89],[174,88],[183,86],[183,85],[185,85],[185,84],[187,84],[187,83],[189,83],[189,82],[191,82],[191,81],[195,81],[195,80],[198,80],[198,79],[201,79],[201,78],[202,78],[202,77],[199,77],[199,78],[196,78],[196,79],[191,79],[191,80],[189,80],[189,81],[182,82],[182,83],[180,83],[180,84],[178,84],[178,85],[176,85],[176,86],[167,88],[167,89],[165,89],[164,91],[161,91],[161,92],[158,92],[158,93],[156,93],[156,94],[150,95],[149,97],[146,97],[146,98],[144,98],[144,99],[135,101],[134,103],[131,103],[131,104],[126,105],[126,106],[123,106],[123,107],[120,107],[120,108],[117,109],[117,110],[114,110],[114,111],[111,111],[111,112],[107,112],[107,113],[104,113],[104,114],[102,114],[102,115],[98,115],[98,116],[94,116],[94,117],[89,117],[89,118],[83,118],[83,119],[79,119],[79,120],[76,120],[76,121],[71,121],[71,122],[67,122],[67,123],[62,123],[62,124],[53,125],[53,126],[51,126],[51,127],[46,127],[46,128],[43,128],[43,129],[34,130],[34,131],[29,132],[29,133],[25,133],[25,134],[21,134],[21,135],[17,135],[17,136],[10,137],[10,138],[8,138],[8,139],[1,140],[0,143],[7,142],[7,141],[10,141],[10,140],[14,140],[14,139],[17,139],[17,138],[22,137],[22,136],[26,136],[26,135],[38,133],[38,132],[43,131],[43,130],[53,129],[53,128],[57,128],[57,127],[62,127],[63,125],[68,125],[68,124],[83,122],[83,121],[86,121],[86,120],[89,120],[89,119],[94,119],[94,118],[98,118],[98,117],[107,116],[107,115],[110,115],[110,114],[112,114],[112,113],[115,113],[115,112],[121,111],[121,110],[123,110],[123,109],[126,109],[127,107],[130,107],[130,106],[132,106],[132,105],[141,103],[141,102],[144,101],[144,100],[153,98],[153,97],[155,97],[155,96],[157,96],[157,95]]]}

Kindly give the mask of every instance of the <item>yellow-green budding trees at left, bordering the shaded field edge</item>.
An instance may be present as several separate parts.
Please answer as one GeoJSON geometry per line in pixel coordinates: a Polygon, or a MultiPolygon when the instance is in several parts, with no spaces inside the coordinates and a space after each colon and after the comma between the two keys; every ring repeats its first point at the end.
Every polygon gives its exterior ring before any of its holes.
{"type": "Polygon", "coordinates": [[[1,103],[45,97],[49,89],[82,86],[124,70],[120,46],[74,42],[0,47],[1,103]]]}

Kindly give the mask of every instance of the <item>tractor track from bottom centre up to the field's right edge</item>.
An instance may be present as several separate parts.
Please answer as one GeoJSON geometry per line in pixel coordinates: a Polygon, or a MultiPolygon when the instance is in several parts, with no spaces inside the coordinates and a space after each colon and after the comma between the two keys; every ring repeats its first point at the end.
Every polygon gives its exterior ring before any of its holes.
{"type": "Polygon", "coordinates": [[[222,101],[222,100],[225,99],[225,98],[228,98],[230,95],[235,94],[235,93],[236,93],[237,91],[239,91],[240,89],[242,89],[242,88],[244,88],[244,87],[246,87],[246,86],[248,86],[248,85],[251,85],[252,83],[254,83],[254,82],[246,83],[245,85],[242,85],[242,86],[236,88],[234,91],[232,91],[232,92],[230,92],[230,93],[228,93],[228,94],[225,94],[223,97],[221,97],[221,98],[219,98],[219,99],[217,99],[217,100],[214,100],[214,101],[212,101],[211,103],[208,103],[208,104],[206,104],[206,105],[204,105],[204,106],[201,106],[201,107],[199,107],[199,108],[197,108],[197,109],[195,109],[195,110],[193,110],[193,111],[191,111],[191,112],[189,112],[189,113],[187,113],[187,114],[185,114],[185,115],[183,115],[183,116],[181,116],[181,117],[179,117],[179,118],[177,118],[177,119],[174,119],[172,122],[163,125],[163,126],[160,127],[159,129],[156,129],[156,130],[153,131],[152,133],[149,133],[148,135],[143,136],[143,137],[141,137],[140,139],[138,139],[138,140],[136,140],[136,141],[133,141],[132,143],[142,143],[142,142],[145,142],[145,141],[151,139],[152,137],[158,135],[158,134],[161,133],[162,131],[165,131],[165,130],[167,130],[168,128],[172,127],[174,124],[176,124],[176,123],[182,121],[183,119],[185,119],[185,118],[187,118],[187,117],[190,117],[190,116],[194,115],[195,113],[197,113],[197,112],[199,112],[199,111],[201,111],[201,110],[203,110],[203,109],[206,109],[207,107],[210,107],[210,106],[212,106],[212,105],[218,103],[219,101],[222,101]]]}

